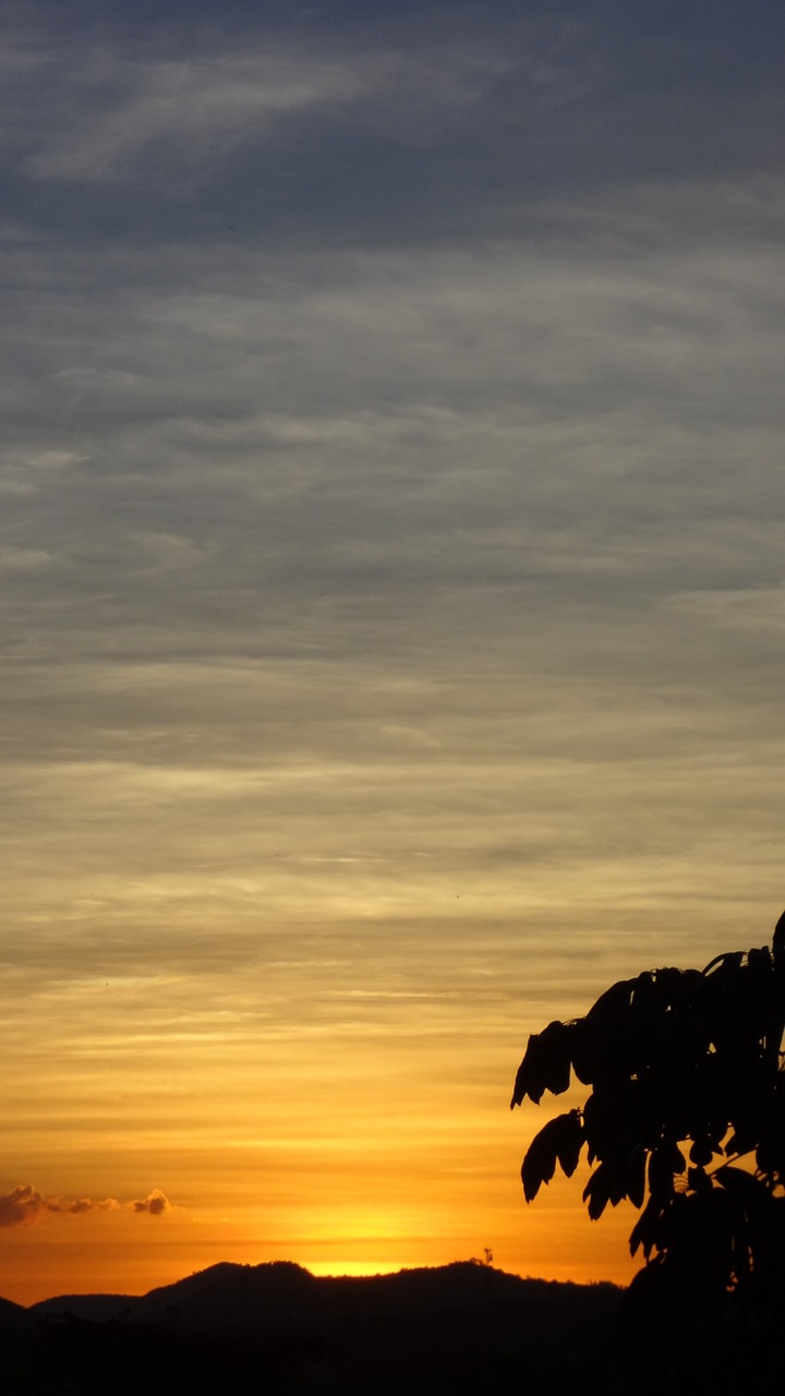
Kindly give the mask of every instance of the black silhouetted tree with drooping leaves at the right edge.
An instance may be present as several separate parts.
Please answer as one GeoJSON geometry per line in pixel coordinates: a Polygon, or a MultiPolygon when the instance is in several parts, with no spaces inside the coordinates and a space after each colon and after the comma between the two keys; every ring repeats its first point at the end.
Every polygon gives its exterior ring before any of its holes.
{"type": "Polygon", "coordinates": [[[591,1086],[550,1120],[521,1168],[531,1202],[582,1149],[592,1219],[629,1198],[630,1251],[645,1266],[633,1309],[694,1322],[772,1314],[785,1266],[785,913],[772,948],[718,955],[704,970],[620,980],[585,1018],[529,1037],[511,1106],[591,1086]]]}

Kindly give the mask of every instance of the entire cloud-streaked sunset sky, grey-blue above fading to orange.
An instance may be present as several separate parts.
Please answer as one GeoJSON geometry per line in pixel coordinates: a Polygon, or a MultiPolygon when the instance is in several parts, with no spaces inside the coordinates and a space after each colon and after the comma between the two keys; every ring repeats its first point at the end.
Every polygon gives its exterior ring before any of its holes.
{"type": "Polygon", "coordinates": [[[626,1282],[508,1100],[785,906],[785,11],[0,27],[0,1294],[626,1282]]]}

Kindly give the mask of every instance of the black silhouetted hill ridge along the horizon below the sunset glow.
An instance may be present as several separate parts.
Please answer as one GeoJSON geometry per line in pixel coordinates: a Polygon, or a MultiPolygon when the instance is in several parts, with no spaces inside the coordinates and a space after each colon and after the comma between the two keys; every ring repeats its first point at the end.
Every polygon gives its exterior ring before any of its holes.
{"type": "Polygon", "coordinates": [[[3,1396],[577,1396],[602,1389],[620,1298],[610,1284],[474,1261],[370,1277],[225,1262],[144,1295],[64,1294],[21,1309],[21,1375],[3,1396]]]}

